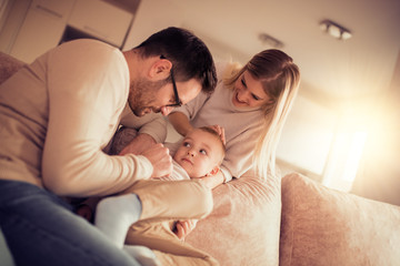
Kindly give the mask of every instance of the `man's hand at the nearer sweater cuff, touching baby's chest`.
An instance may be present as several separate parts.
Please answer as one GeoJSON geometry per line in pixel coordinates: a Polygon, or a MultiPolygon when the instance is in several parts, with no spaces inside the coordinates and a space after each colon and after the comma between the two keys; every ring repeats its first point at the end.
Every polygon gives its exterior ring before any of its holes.
{"type": "Polygon", "coordinates": [[[172,173],[172,157],[169,154],[169,150],[161,143],[152,145],[141,155],[146,156],[153,166],[153,173],[151,178],[169,176],[172,173]]]}

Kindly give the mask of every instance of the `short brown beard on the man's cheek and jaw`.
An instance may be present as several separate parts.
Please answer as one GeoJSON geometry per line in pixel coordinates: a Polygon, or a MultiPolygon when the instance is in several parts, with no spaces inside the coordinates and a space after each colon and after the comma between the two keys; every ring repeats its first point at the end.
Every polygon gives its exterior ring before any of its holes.
{"type": "Polygon", "coordinates": [[[157,100],[157,92],[166,84],[167,80],[149,81],[144,78],[139,78],[132,81],[129,88],[129,106],[137,116],[143,116],[151,111],[159,113],[161,106],[154,106],[153,102],[157,100]]]}

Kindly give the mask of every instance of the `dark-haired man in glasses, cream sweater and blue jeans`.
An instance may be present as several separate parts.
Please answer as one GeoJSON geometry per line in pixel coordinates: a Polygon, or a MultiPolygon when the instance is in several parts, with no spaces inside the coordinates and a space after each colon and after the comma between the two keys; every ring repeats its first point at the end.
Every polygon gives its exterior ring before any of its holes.
{"type": "Polygon", "coordinates": [[[209,50],[178,28],[123,53],[71,41],[1,84],[0,226],[17,265],[138,265],[60,196],[110,195],[170,174],[166,147],[141,146],[158,141],[150,132],[160,127],[146,115],[167,115],[214,85],[209,50]],[[120,122],[153,129],[131,144],[138,155],[102,151],[120,122]]]}

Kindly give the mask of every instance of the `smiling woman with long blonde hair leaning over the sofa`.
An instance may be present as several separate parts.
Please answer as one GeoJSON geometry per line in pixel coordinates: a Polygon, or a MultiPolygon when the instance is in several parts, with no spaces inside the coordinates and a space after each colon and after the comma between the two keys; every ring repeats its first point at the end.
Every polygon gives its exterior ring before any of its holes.
{"type": "Polygon", "coordinates": [[[267,178],[274,174],[278,141],[300,83],[299,68],[280,50],[256,54],[244,66],[218,65],[212,94],[199,94],[169,115],[186,136],[193,127],[213,125],[226,140],[227,155],[214,187],[246,173],[267,178]]]}

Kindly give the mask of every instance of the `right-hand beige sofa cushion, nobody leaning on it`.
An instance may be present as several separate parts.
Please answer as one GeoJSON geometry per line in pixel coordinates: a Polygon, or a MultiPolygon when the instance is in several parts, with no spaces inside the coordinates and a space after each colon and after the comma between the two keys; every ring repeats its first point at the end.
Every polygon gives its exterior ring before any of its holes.
{"type": "Polygon", "coordinates": [[[280,265],[399,265],[400,207],[282,178],[280,265]]]}

